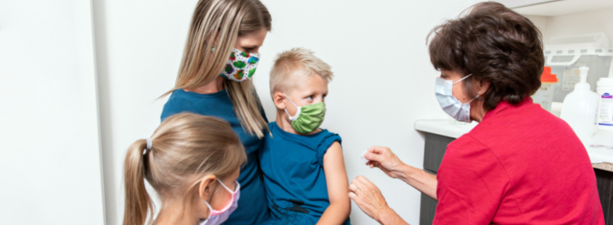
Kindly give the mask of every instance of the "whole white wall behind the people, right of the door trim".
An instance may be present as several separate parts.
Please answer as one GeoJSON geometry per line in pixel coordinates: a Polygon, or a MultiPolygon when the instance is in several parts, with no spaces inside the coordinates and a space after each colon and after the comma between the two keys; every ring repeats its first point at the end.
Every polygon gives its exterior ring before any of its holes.
{"type": "MultiPolygon", "coordinates": [[[[159,124],[165,100],[156,98],[173,86],[195,2],[94,0],[108,224],[123,218],[125,151],[159,124]]],[[[273,31],[261,49],[254,81],[268,119],[275,118],[268,96],[275,54],[299,46],[313,49],[335,72],[322,127],[342,136],[349,179],[365,175],[391,207],[418,224],[419,192],[361,165],[359,154],[373,145],[389,146],[404,162],[422,167],[423,138],[414,122],[447,118],[433,94],[438,74],[428,58],[426,35],[476,1],[263,2],[273,16],[273,31]]],[[[352,224],[375,224],[356,205],[351,218],[352,224]]]]}

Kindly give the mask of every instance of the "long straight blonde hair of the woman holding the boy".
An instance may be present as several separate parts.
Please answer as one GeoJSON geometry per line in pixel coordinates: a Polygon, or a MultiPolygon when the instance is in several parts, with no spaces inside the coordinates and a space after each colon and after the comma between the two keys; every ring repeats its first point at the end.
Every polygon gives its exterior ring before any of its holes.
{"type": "MultiPolygon", "coordinates": [[[[271,14],[259,0],[200,0],[194,9],[183,58],[175,81],[177,89],[196,89],[219,77],[230,57],[237,37],[266,28],[271,30],[271,14]],[[214,51],[213,42],[216,42],[214,51]]],[[[240,124],[247,133],[264,137],[268,129],[251,79],[223,82],[240,124]]]]}

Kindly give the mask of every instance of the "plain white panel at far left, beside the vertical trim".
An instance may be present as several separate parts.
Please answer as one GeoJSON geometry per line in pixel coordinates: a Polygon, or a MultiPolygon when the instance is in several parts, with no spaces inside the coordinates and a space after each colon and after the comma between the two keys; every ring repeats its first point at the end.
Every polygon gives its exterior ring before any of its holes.
{"type": "Polygon", "coordinates": [[[0,1],[1,224],[104,224],[91,1],[0,1]]]}

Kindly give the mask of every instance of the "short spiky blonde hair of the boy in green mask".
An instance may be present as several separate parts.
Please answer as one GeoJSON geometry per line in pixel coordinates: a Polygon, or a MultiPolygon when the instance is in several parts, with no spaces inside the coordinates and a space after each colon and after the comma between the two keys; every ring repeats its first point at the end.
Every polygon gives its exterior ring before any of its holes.
{"type": "Polygon", "coordinates": [[[299,77],[316,74],[329,83],[334,77],[330,69],[328,63],[308,49],[295,48],[279,53],[271,70],[271,96],[294,88],[300,81],[299,77]]]}

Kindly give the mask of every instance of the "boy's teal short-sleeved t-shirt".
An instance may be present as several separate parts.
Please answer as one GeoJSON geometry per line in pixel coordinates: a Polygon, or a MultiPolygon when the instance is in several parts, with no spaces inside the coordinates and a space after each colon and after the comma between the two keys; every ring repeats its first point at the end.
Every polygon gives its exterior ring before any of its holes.
{"type": "MultiPolygon", "coordinates": [[[[303,136],[284,131],[276,122],[268,128],[272,136],[266,135],[259,155],[271,208],[269,224],[316,224],[330,206],[323,155],[342,140],[326,129],[303,136]]],[[[344,224],[350,224],[349,218],[344,224]]]]}

